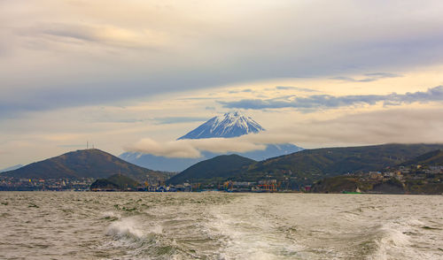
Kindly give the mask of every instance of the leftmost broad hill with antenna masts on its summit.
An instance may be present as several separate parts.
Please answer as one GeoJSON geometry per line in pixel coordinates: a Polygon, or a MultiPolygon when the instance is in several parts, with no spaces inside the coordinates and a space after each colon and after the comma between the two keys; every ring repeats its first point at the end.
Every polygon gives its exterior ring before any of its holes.
{"type": "Polygon", "coordinates": [[[120,173],[134,180],[166,180],[166,172],[156,172],[129,164],[119,157],[100,149],[82,149],[68,152],[33,164],[27,164],[17,170],[2,172],[2,176],[25,179],[80,179],[107,178],[120,173]]]}

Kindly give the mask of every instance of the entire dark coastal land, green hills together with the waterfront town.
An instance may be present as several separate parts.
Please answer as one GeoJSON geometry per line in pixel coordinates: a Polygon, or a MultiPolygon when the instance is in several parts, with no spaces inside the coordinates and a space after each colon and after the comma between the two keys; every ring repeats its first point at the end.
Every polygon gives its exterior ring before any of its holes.
{"type": "Polygon", "coordinates": [[[17,170],[2,172],[0,190],[441,195],[443,150],[434,149],[435,146],[439,145],[388,144],[314,149],[271,158],[264,162],[237,155],[219,156],[199,162],[179,173],[148,170],[99,149],[85,149],[29,164],[17,170]],[[432,150],[418,157],[410,157],[403,163],[384,166],[379,171],[346,171],[346,167],[379,167],[377,157],[381,154],[373,153],[372,150],[387,150],[391,154],[389,157],[382,154],[383,158],[380,160],[383,161],[386,158],[398,160],[400,155],[395,155],[394,151],[400,149],[401,153],[405,153],[406,148],[432,150]],[[360,153],[358,156],[357,150],[360,153]],[[324,168],[322,158],[327,156],[330,161],[333,154],[339,155],[338,162],[324,168]],[[294,157],[299,157],[299,160],[294,160],[294,157]],[[309,165],[309,172],[300,169],[301,163],[308,164],[309,158],[315,159],[315,163],[309,165]],[[356,160],[357,158],[360,160],[356,160]],[[323,165],[323,172],[319,172],[319,165],[323,165]],[[330,169],[338,171],[335,169],[340,168],[346,173],[329,173],[330,169]],[[65,169],[66,172],[59,169],[65,169]],[[74,169],[78,171],[75,175],[74,169]]]}

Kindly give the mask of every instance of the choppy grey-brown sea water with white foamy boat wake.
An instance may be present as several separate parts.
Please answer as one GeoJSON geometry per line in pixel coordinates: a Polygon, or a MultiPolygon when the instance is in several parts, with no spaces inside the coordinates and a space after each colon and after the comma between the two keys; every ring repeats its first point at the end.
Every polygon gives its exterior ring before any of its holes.
{"type": "Polygon", "coordinates": [[[0,259],[443,259],[443,196],[2,192],[0,259]]]}

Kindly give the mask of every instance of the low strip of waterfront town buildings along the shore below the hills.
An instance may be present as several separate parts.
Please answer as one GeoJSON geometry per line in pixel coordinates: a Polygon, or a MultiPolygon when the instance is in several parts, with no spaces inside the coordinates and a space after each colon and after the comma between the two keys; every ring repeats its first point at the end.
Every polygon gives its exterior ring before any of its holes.
{"type": "MultiPolygon", "coordinates": [[[[119,176],[117,174],[117,176],[119,176]]],[[[121,177],[126,177],[120,175],[121,177]]],[[[397,171],[347,173],[319,180],[313,185],[297,188],[284,187],[281,181],[225,181],[223,183],[188,183],[167,185],[164,181],[155,184],[128,186],[128,184],[94,186],[97,180],[71,179],[16,179],[0,177],[3,191],[92,191],[92,192],[205,192],[220,191],[234,193],[354,193],[354,194],[409,194],[440,195],[443,166],[400,167],[397,171]]],[[[134,180],[135,181],[135,180],[134,180]]]]}

